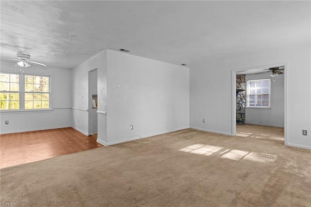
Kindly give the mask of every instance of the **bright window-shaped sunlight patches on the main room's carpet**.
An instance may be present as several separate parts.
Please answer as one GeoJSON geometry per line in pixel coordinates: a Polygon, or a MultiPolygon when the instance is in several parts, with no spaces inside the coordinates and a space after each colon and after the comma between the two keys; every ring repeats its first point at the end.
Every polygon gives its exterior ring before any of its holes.
{"type": "MultiPolygon", "coordinates": [[[[199,154],[199,155],[212,155],[223,149],[224,147],[204,145],[204,144],[193,144],[188,147],[182,148],[179,151],[194,153],[194,154],[199,154]]],[[[260,162],[260,163],[271,163],[271,162],[274,162],[277,158],[277,155],[271,155],[267,153],[248,152],[248,151],[242,151],[242,150],[237,150],[237,149],[234,149],[231,151],[230,149],[224,149],[223,152],[220,152],[217,155],[222,155],[221,158],[231,159],[235,161],[242,159],[242,160],[260,162]]]]}

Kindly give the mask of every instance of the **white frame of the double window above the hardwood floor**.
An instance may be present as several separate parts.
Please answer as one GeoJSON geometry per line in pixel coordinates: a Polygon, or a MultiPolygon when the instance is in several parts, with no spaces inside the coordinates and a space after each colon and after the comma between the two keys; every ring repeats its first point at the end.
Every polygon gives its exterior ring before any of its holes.
{"type": "Polygon", "coordinates": [[[19,75],[19,109],[18,110],[0,110],[0,113],[32,113],[32,112],[48,112],[53,110],[53,102],[52,102],[52,74],[41,73],[41,72],[8,72],[8,71],[0,71],[0,73],[6,74],[18,74],[19,75]],[[33,76],[45,76],[49,77],[49,108],[35,108],[35,109],[25,109],[25,75],[33,75],[33,76]]]}

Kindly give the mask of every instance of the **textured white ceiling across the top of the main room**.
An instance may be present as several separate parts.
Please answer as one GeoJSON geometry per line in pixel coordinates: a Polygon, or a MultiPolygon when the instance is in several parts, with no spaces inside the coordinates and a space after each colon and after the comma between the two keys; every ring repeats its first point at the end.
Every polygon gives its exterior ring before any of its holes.
{"type": "Polygon", "coordinates": [[[310,1],[0,3],[1,59],[21,52],[50,67],[70,69],[105,49],[124,48],[191,68],[310,44],[310,1]]]}

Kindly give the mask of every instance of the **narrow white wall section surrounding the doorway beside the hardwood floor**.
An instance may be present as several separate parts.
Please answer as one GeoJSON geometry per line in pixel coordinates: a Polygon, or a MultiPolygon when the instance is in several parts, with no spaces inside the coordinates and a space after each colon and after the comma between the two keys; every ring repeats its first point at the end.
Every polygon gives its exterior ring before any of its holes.
{"type": "MultiPolygon", "coordinates": [[[[97,69],[98,73],[98,111],[106,111],[106,51],[72,69],[72,127],[85,135],[92,133],[88,127],[88,71],[93,69],[97,69]]],[[[105,119],[98,120],[98,138],[100,140],[106,139],[106,131],[102,130],[106,127],[105,119]]]]}

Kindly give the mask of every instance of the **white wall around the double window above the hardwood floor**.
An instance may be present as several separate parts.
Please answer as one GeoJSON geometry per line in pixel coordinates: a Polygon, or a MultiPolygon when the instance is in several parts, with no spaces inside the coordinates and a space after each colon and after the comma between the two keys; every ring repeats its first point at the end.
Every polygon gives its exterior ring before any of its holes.
{"type": "MultiPolygon", "coordinates": [[[[3,72],[20,72],[13,62],[0,62],[3,72]]],[[[25,73],[51,75],[52,107],[49,111],[0,112],[0,133],[15,133],[71,126],[71,71],[32,65],[25,73]],[[5,124],[9,120],[9,124],[5,124]]]]}

